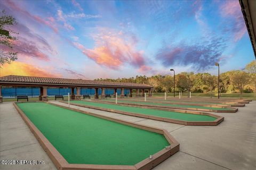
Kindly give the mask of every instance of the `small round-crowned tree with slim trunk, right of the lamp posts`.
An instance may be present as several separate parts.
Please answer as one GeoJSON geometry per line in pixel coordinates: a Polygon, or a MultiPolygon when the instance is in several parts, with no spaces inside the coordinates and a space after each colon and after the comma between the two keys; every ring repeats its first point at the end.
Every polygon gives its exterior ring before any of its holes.
{"type": "Polygon", "coordinates": [[[230,79],[231,79],[232,84],[234,84],[234,86],[239,89],[240,98],[242,99],[243,98],[244,86],[250,80],[248,74],[244,71],[235,70],[230,75],[230,79]]]}

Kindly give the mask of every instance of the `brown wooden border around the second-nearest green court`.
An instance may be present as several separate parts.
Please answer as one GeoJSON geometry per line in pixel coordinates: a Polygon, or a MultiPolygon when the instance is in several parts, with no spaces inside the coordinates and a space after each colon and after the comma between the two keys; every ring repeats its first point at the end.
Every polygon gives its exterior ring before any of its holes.
{"type": "MultiPolygon", "coordinates": [[[[59,102],[68,104],[66,101],[59,100],[59,102]]],[[[177,119],[172,119],[172,118],[165,118],[165,117],[158,117],[158,116],[152,116],[152,115],[117,111],[115,109],[108,109],[108,108],[95,107],[95,106],[86,106],[86,105],[83,105],[83,104],[70,103],[70,105],[92,108],[92,109],[97,109],[97,110],[100,110],[100,111],[114,112],[114,113],[129,115],[129,116],[135,116],[135,117],[149,118],[149,119],[157,120],[157,121],[170,122],[170,123],[176,123],[176,124],[182,124],[182,125],[190,125],[190,126],[216,126],[216,125],[220,124],[222,121],[224,121],[223,116],[218,116],[218,115],[214,115],[214,114],[211,114],[211,113],[205,113],[205,112],[181,111],[181,110],[172,109],[173,112],[206,115],[206,116],[215,117],[217,119],[215,121],[182,121],[182,120],[177,120],[177,119]]],[[[159,110],[158,108],[150,108],[150,109],[159,110]]]]}

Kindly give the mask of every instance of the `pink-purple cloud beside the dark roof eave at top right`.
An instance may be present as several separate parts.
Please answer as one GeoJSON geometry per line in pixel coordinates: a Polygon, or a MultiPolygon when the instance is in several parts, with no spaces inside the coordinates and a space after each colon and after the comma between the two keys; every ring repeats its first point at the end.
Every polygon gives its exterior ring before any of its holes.
{"type": "Polygon", "coordinates": [[[239,41],[247,32],[239,1],[226,1],[220,6],[221,16],[234,19],[231,31],[234,33],[234,41],[239,41]]]}

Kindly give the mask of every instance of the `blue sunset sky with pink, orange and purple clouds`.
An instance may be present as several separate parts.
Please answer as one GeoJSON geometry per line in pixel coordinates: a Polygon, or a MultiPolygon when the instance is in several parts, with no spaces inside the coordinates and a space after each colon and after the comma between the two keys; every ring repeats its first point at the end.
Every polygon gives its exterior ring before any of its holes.
{"type": "Polygon", "coordinates": [[[123,78],[243,69],[255,60],[238,1],[1,1],[19,32],[1,76],[123,78]]]}

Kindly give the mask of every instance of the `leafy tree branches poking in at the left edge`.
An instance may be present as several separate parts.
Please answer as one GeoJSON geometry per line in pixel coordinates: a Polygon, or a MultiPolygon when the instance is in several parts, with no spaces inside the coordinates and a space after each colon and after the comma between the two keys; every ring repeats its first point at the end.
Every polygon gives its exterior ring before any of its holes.
{"type": "Polygon", "coordinates": [[[12,50],[13,43],[18,38],[11,35],[18,33],[9,28],[10,25],[14,24],[17,24],[15,18],[11,15],[6,15],[3,10],[0,16],[0,67],[2,67],[4,63],[11,64],[18,59],[17,52],[13,52],[12,50]]]}

